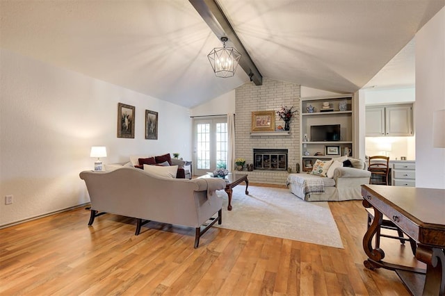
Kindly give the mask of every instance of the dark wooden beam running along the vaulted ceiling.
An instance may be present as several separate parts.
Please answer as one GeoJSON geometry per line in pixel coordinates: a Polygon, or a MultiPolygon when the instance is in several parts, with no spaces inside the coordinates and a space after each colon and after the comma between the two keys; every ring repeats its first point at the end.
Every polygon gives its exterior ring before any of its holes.
{"type": "Polygon", "coordinates": [[[223,10],[218,6],[215,0],[188,0],[201,15],[204,22],[211,28],[211,31],[215,33],[218,39],[227,37],[229,42],[233,44],[233,47],[241,54],[241,60],[239,65],[243,68],[244,72],[250,77],[250,81],[253,81],[255,85],[263,84],[263,76],[259,72],[257,66],[250,58],[248,51],[245,50],[241,40],[236,35],[232,25],[225,17],[223,10]]]}

